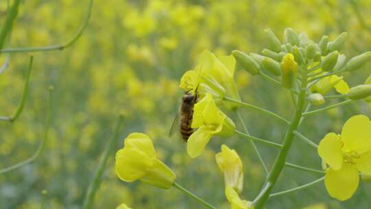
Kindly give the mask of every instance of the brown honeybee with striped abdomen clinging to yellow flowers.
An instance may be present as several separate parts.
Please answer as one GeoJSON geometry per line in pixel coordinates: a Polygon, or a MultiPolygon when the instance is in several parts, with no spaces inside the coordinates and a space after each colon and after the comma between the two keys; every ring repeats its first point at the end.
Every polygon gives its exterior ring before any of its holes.
{"type": "Polygon", "coordinates": [[[180,131],[181,137],[184,142],[187,142],[190,135],[193,133],[191,127],[192,117],[193,117],[193,107],[197,102],[197,89],[195,94],[190,94],[190,91],[186,93],[181,98],[181,106],[179,107],[179,113],[172,122],[169,135],[172,136],[176,131],[180,131]],[[179,127],[179,129],[178,129],[179,127]],[[177,130],[178,129],[178,130],[177,130]]]}

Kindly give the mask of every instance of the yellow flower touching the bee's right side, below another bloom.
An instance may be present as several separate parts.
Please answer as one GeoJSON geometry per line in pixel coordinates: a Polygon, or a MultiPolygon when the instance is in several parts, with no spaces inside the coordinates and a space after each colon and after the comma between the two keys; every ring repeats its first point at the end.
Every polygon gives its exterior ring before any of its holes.
{"type": "Polygon", "coordinates": [[[209,93],[194,105],[191,126],[197,130],[190,135],[187,142],[187,152],[190,157],[200,155],[213,135],[232,135],[236,128],[234,122],[216,107],[209,93]]]}

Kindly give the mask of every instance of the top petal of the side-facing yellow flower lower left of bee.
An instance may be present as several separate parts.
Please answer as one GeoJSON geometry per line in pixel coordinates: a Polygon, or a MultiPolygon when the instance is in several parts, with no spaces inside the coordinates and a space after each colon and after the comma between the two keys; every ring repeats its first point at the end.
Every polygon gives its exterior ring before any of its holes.
{"type": "Polygon", "coordinates": [[[150,155],[151,157],[156,157],[156,151],[153,147],[152,140],[150,140],[150,137],[144,133],[131,133],[124,140],[124,144],[126,148],[134,148],[150,155]]]}

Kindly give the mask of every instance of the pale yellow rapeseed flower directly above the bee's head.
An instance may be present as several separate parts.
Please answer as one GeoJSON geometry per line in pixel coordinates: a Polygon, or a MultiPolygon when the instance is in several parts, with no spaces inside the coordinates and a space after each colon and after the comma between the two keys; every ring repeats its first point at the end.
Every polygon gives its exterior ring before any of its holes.
{"type": "Polygon", "coordinates": [[[234,83],[235,65],[233,56],[217,58],[215,54],[205,50],[200,56],[199,64],[183,74],[179,87],[191,93],[198,88],[200,98],[210,93],[216,99],[228,96],[240,100],[234,83]]]}

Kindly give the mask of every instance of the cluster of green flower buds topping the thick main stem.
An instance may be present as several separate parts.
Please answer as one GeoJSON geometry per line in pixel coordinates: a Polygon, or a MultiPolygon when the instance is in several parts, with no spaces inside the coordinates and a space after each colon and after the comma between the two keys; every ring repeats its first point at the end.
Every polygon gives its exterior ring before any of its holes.
{"type": "MultiPolygon", "coordinates": [[[[249,74],[266,76],[264,72],[267,72],[272,76],[280,76],[282,87],[291,89],[295,87],[296,80],[301,79],[299,77],[302,74],[315,75],[306,78],[312,81],[319,76],[324,76],[324,74],[335,75],[338,72],[355,71],[370,61],[371,52],[363,53],[349,60],[344,54],[341,54],[340,50],[344,48],[347,37],[346,32],[339,34],[335,39],[330,39],[325,35],[316,43],[308,39],[306,34],[297,34],[292,28],[286,28],[282,41],[280,41],[276,34],[267,29],[265,30],[267,48],[263,49],[261,54],[245,53],[238,50],[234,50],[232,54],[237,63],[249,74]]],[[[337,91],[348,91],[345,81],[340,85],[334,82],[338,78],[343,79],[341,76],[333,76],[323,80],[312,89],[317,89],[319,92],[322,87],[329,86],[330,89],[337,88],[337,91]]]]}

